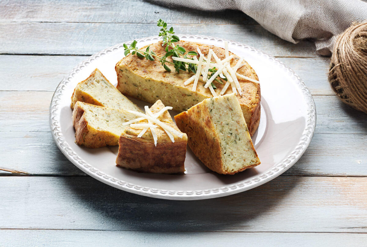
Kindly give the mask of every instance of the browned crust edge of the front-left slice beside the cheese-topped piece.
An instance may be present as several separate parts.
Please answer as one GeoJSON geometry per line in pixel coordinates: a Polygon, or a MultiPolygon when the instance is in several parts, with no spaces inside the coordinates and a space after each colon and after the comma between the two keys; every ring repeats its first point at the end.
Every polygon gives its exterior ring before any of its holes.
{"type": "Polygon", "coordinates": [[[118,145],[118,137],[107,131],[96,130],[88,124],[84,109],[79,107],[78,103],[73,110],[73,126],[75,141],[80,146],[101,148],[107,145],[118,145]]]}

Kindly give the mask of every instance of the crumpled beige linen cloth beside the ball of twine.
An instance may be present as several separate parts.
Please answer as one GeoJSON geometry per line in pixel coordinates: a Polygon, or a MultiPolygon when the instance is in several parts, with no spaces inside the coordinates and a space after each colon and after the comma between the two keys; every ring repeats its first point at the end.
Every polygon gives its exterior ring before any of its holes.
{"type": "Polygon", "coordinates": [[[354,21],[367,19],[361,0],[152,0],[207,11],[240,10],[280,38],[311,39],[320,55],[331,55],[336,36],[354,21]]]}

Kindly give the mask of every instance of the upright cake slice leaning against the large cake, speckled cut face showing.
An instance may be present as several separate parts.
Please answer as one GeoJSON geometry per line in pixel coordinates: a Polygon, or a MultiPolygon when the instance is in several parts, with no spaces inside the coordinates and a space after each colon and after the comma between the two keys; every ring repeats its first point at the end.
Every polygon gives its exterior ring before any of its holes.
{"type": "Polygon", "coordinates": [[[234,94],[204,99],[175,120],[193,153],[212,171],[235,174],[260,164],[234,94]]]}

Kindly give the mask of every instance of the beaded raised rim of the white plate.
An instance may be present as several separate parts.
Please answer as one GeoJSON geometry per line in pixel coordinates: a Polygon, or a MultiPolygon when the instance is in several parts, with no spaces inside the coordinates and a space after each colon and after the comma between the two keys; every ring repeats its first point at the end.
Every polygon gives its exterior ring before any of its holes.
{"type": "MultiPolygon", "coordinates": [[[[138,185],[132,185],[127,184],[124,181],[121,181],[119,179],[114,178],[112,175],[107,175],[104,172],[99,171],[98,169],[94,168],[86,163],[83,159],[81,159],[71,148],[70,146],[65,142],[65,139],[63,137],[62,132],[59,130],[60,126],[57,124],[59,123],[55,118],[57,115],[55,112],[58,110],[58,97],[61,95],[62,87],[69,83],[70,78],[73,77],[74,73],[78,73],[80,69],[82,69],[84,66],[87,66],[87,63],[90,63],[93,59],[98,59],[99,57],[108,54],[109,52],[113,52],[114,49],[119,50],[121,47],[123,47],[124,43],[131,43],[133,40],[116,44],[114,46],[111,46],[109,48],[106,48],[105,50],[99,51],[94,55],[91,55],[87,59],[85,59],[83,62],[79,63],[75,68],[73,68],[68,75],[61,80],[59,85],[57,86],[50,103],[50,128],[51,128],[51,134],[52,138],[55,141],[55,144],[58,146],[58,148],[61,150],[61,152],[67,157],[68,160],[70,160],[76,167],[78,167],[83,172],[86,172],[91,177],[97,179],[98,181],[101,181],[105,184],[108,184],[114,188],[121,189],[127,192],[135,193],[137,195],[142,196],[149,196],[154,198],[160,198],[160,199],[169,199],[169,200],[202,200],[202,199],[210,199],[210,198],[216,198],[216,197],[222,197],[222,196],[228,196],[233,195],[236,193],[244,192],[246,190],[255,188],[259,185],[265,184],[266,182],[269,182],[270,180],[278,177],[283,172],[287,171],[293,164],[295,164],[298,159],[304,154],[307,147],[309,146],[313,132],[315,131],[316,126],[316,107],[315,102],[313,101],[312,95],[310,94],[310,91],[306,87],[305,83],[299,78],[299,76],[290,69],[287,65],[285,65],[283,62],[279,61],[275,57],[257,49],[251,46],[248,46],[246,44],[223,39],[223,38],[217,38],[217,37],[211,37],[211,36],[204,36],[204,35],[190,35],[190,34],[183,34],[180,35],[180,37],[183,38],[194,38],[194,39],[214,39],[216,41],[228,41],[232,44],[236,44],[237,46],[243,46],[244,48],[249,48],[250,51],[254,51],[259,53],[260,55],[265,55],[269,59],[272,59],[274,62],[279,63],[279,66],[283,67],[284,69],[287,69],[288,72],[290,72],[294,76],[295,79],[298,82],[298,86],[302,87],[303,90],[303,96],[305,98],[308,98],[307,104],[308,104],[308,119],[306,121],[306,127],[304,129],[304,132],[308,130],[306,133],[302,134],[302,138],[300,139],[300,142],[298,143],[298,146],[301,146],[302,150],[298,152],[296,155],[289,155],[288,157],[284,158],[283,161],[280,163],[274,164],[271,168],[269,168],[267,171],[263,172],[262,174],[258,174],[255,178],[247,179],[246,181],[241,181],[241,183],[236,184],[235,188],[229,188],[229,187],[223,187],[223,188],[215,188],[211,190],[199,190],[199,191],[168,191],[168,190],[160,190],[155,188],[142,188],[138,185]],[[78,71],[79,70],[79,71],[78,71]],[[306,139],[305,139],[306,138],[306,139]],[[300,144],[302,142],[302,145],[300,144]],[[71,153],[70,153],[71,152],[71,153]],[[293,158],[290,159],[290,156],[293,156],[293,158]],[[286,163],[286,161],[289,161],[286,163]],[[266,174],[270,173],[270,174],[266,174]]],[[[159,36],[149,36],[141,39],[137,39],[137,41],[147,41],[149,39],[160,39],[159,36]]],[[[233,186],[231,186],[233,187],[233,186]]]]}

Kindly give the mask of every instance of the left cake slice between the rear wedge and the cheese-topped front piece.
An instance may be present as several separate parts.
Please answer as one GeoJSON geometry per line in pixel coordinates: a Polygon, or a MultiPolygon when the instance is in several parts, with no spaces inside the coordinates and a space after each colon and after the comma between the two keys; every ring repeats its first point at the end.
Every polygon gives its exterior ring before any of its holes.
{"type": "Polygon", "coordinates": [[[124,110],[77,101],[73,110],[76,143],[87,148],[118,145],[126,127],[123,123],[135,118],[124,110]]]}

